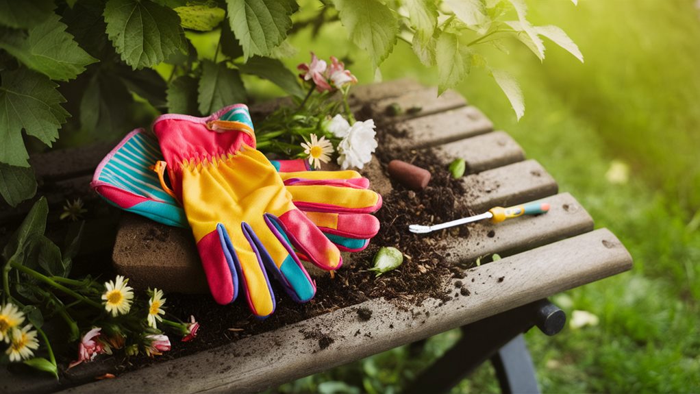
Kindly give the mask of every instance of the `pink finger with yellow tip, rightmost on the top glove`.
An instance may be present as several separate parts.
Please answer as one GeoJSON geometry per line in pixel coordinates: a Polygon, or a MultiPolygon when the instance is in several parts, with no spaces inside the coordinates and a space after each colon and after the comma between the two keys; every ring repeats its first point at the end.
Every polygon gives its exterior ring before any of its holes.
{"type": "Polygon", "coordinates": [[[290,244],[307,255],[316,267],[332,270],[343,264],[338,248],[298,209],[286,211],[279,217],[265,213],[265,220],[270,228],[274,227],[281,234],[286,234],[290,244]]]}

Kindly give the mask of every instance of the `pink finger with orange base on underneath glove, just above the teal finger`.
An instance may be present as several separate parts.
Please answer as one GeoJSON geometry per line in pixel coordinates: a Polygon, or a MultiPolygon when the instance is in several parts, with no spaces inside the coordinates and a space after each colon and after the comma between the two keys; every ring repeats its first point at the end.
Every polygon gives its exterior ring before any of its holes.
{"type": "Polygon", "coordinates": [[[324,234],[370,239],[379,232],[379,219],[369,213],[304,212],[324,234]]]}

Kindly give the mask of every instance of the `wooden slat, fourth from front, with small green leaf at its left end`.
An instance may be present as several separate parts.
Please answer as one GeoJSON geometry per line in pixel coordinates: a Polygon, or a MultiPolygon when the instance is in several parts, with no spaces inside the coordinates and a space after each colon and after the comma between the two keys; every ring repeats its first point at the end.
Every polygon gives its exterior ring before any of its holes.
{"type": "Polygon", "coordinates": [[[435,147],[442,164],[464,159],[466,174],[502,167],[525,159],[522,148],[505,132],[490,132],[435,147]]]}

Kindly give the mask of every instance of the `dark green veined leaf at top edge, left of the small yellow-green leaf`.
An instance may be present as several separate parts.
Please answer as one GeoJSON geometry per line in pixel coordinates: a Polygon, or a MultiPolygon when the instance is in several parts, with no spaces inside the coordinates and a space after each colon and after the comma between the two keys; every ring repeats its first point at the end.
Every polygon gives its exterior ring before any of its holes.
{"type": "Polygon", "coordinates": [[[180,17],[153,1],[109,0],[107,35],[132,69],[151,67],[186,49],[180,17]]]}

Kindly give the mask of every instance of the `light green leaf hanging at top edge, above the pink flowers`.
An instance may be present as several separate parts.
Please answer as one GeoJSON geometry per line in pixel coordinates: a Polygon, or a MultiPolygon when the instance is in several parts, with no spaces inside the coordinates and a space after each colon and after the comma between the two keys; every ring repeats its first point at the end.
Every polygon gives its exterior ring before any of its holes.
{"type": "Polygon", "coordinates": [[[335,0],[340,22],[358,47],[366,50],[374,66],[393,50],[398,21],[387,6],[377,0],[335,0]]]}

